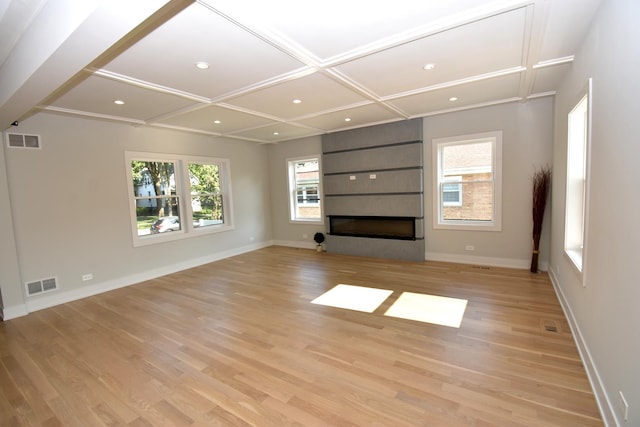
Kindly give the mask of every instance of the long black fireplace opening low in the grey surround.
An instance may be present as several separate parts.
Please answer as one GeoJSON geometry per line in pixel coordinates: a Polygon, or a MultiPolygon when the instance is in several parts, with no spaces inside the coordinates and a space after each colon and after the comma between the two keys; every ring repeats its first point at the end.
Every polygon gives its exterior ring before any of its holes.
{"type": "Polygon", "coordinates": [[[329,216],[329,234],[416,240],[416,221],[413,217],[332,215],[329,216]]]}

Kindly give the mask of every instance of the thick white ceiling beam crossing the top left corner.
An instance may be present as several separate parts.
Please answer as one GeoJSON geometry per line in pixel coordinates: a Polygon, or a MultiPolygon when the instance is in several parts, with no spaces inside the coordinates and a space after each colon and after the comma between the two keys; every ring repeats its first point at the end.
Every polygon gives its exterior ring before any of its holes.
{"type": "Polygon", "coordinates": [[[116,55],[136,33],[146,34],[191,3],[48,1],[0,69],[0,129],[25,119],[74,78],[86,77],[84,68],[116,55]]]}

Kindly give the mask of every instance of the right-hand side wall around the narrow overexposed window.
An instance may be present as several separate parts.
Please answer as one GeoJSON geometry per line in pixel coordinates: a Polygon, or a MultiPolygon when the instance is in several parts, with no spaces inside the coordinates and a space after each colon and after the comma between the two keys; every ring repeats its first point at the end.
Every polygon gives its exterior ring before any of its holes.
{"type": "Polygon", "coordinates": [[[602,2],[556,96],[550,271],[608,425],[640,425],[640,2],[602,2]],[[585,286],[563,251],[567,114],[593,78],[585,286]],[[622,391],[630,405],[623,421],[622,391]],[[614,420],[614,417],[617,421],[614,420]]]}

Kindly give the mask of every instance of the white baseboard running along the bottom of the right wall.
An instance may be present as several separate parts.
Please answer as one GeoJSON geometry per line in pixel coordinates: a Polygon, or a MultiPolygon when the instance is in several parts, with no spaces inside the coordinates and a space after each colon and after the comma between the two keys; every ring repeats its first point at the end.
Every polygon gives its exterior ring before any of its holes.
{"type": "Polygon", "coordinates": [[[571,311],[571,306],[567,301],[564,293],[562,292],[562,288],[559,286],[558,278],[556,277],[553,269],[549,269],[549,277],[551,278],[551,283],[553,284],[553,289],[558,296],[558,301],[560,301],[560,305],[562,306],[562,310],[564,311],[564,315],[569,322],[569,327],[571,328],[571,333],[573,334],[573,339],[576,342],[576,347],[578,347],[578,353],[580,353],[580,358],[582,359],[582,364],[587,371],[587,377],[589,378],[589,382],[591,383],[591,388],[593,389],[593,394],[595,395],[596,402],[598,404],[598,408],[600,409],[600,415],[602,415],[602,420],[604,421],[605,426],[607,427],[620,427],[620,423],[615,416],[614,406],[611,404],[611,400],[609,400],[609,396],[607,394],[607,390],[604,387],[604,383],[600,378],[600,374],[598,373],[598,369],[596,365],[593,363],[593,359],[591,357],[591,353],[589,352],[589,347],[582,336],[582,332],[580,331],[580,327],[578,326],[578,322],[576,321],[575,316],[573,315],[573,311],[571,311]]]}

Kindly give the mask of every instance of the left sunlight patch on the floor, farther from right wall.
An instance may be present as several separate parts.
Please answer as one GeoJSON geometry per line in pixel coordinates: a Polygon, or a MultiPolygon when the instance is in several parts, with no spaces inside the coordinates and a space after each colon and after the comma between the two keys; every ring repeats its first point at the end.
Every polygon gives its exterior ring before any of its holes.
{"type": "Polygon", "coordinates": [[[393,291],[387,289],[340,284],[311,303],[373,313],[392,293],[393,291]]]}

